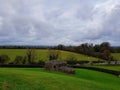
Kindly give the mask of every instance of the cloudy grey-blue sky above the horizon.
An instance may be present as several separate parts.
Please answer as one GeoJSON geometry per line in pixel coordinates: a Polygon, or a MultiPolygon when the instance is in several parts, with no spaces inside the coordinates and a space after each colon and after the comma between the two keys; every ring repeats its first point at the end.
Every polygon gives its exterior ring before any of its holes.
{"type": "Polygon", "coordinates": [[[0,0],[0,45],[120,45],[120,0],[0,0]]]}

